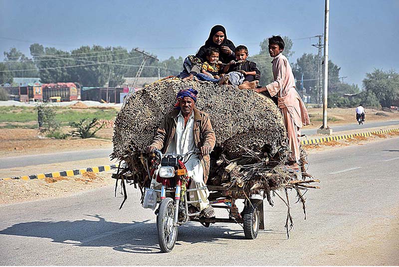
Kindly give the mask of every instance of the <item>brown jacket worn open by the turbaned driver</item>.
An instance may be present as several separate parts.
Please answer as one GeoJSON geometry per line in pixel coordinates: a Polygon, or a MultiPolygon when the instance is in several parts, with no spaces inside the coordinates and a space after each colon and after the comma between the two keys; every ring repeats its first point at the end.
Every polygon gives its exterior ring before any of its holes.
{"type": "MultiPolygon", "coordinates": [[[[202,146],[208,146],[210,150],[215,146],[215,133],[212,129],[212,125],[210,124],[209,115],[205,112],[199,111],[197,108],[194,108],[194,141],[196,143],[196,147],[201,149],[202,146]]],[[[161,125],[157,129],[157,133],[154,137],[154,142],[152,143],[152,147],[160,149],[162,153],[166,153],[169,145],[171,144],[175,133],[176,133],[176,125],[177,125],[177,117],[179,116],[180,110],[174,109],[169,112],[161,125]]],[[[206,183],[209,174],[209,163],[210,157],[209,155],[201,156],[200,162],[203,167],[203,182],[206,183]]]]}

